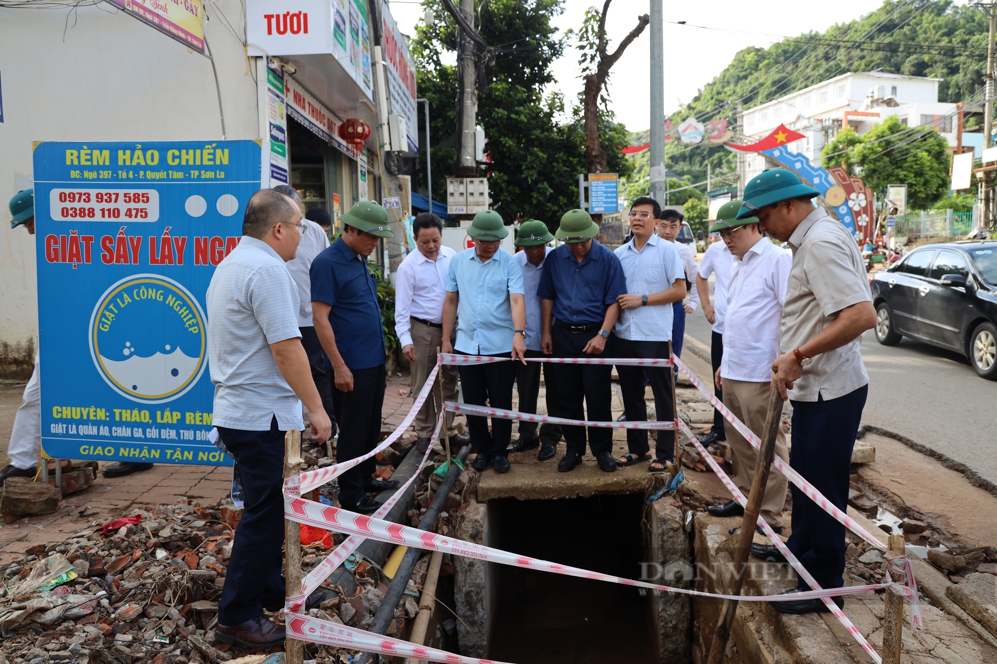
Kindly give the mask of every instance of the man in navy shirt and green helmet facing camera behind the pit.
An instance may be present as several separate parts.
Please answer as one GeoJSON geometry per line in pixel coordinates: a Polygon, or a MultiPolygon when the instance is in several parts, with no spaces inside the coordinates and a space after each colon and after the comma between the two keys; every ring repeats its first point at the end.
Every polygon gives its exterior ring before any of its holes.
{"type": "MultiPolygon", "coordinates": [[[[611,330],[619,315],[616,298],[626,293],[626,277],[619,258],[592,238],[599,226],[583,209],[561,217],[555,237],[564,241],[547,256],[537,286],[543,320],[543,352],[556,357],[590,357],[611,349],[611,330]]],[[[609,353],[611,356],[612,354],[609,353]]],[[[593,422],[612,420],[609,392],[610,365],[557,364],[558,416],[593,422]]],[[[585,454],[585,429],[564,427],[567,454],[557,462],[566,473],[585,454]]],[[[588,444],[599,468],[616,470],[612,457],[612,429],[590,428],[588,444]]]]}

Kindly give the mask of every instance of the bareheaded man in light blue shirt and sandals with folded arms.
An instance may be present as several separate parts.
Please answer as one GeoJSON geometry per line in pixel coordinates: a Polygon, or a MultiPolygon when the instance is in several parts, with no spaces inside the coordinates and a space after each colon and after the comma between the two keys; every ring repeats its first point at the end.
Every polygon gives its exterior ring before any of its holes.
{"type": "MultiPolygon", "coordinates": [[[[626,275],[627,294],[616,301],[620,317],[613,330],[616,335],[616,357],[671,357],[673,302],[686,296],[685,268],[682,255],[674,243],[658,237],[655,229],[661,206],[654,198],[641,197],[630,206],[630,229],[633,239],[616,249],[616,256],[626,275]]],[[[620,391],[623,393],[623,414],[627,422],[647,421],[645,382],[654,393],[654,409],[659,422],[674,420],[672,370],[663,367],[617,366],[620,391]]],[[[632,466],[649,461],[650,446],[647,431],[627,429],[629,454],[616,461],[619,466],[632,466]]],[[[650,470],[660,473],[665,462],[674,459],[675,432],[659,431],[654,461],[650,470]]]]}

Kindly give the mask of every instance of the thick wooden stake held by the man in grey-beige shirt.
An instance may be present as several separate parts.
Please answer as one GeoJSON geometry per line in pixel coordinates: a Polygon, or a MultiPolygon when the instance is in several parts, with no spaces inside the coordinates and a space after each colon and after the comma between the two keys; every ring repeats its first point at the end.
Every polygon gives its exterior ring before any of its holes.
{"type": "MultiPolygon", "coordinates": [[[[755,538],[755,524],[758,522],[758,514],[762,510],[762,500],[765,498],[765,486],[769,482],[769,469],[772,466],[772,457],[776,452],[776,437],[782,426],[782,416],[783,395],[780,394],[779,383],[773,376],[772,390],[769,393],[769,412],[766,414],[765,429],[762,431],[762,449],[759,450],[758,461],[755,464],[755,480],[751,483],[748,504],[745,505],[745,515],[741,521],[738,546],[734,551],[734,584],[727,591],[727,594],[730,595],[740,595],[741,588],[744,586],[748,555],[751,553],[751,543],[755,538]]],[[[713,634],[713,645],[710,648],[708,664],[720,664],[723,661],[737,610],[737,600],[724,600],[720,609],[720,618],[717,620],[717,628],[713,634]]]]}

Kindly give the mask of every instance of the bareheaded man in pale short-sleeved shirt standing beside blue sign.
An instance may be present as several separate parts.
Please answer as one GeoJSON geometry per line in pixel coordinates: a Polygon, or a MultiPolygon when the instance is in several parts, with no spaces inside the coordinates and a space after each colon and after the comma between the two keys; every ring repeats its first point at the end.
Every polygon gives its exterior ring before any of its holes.
{"type": "Polygon", "coordinates": [[[284,601],[284,434],[304,429],[302,402],[312,440],[325,441],[332,428],[301,346],[298,290],[285,266],[301,241],[300,228],[301,213],[290,198],[257,191],[246,203],[242,239],[207,287],[213,422],[245,492],[215,637],[248,648],[284,641],[283,626],[263,613],[284,601]]]}

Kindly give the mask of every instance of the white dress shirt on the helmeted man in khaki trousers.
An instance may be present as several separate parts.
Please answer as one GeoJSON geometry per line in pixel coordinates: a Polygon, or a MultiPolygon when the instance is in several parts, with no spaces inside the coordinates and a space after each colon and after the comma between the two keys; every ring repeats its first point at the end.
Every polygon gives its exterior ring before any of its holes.
{"type": "Polygon", "coordinates": [[[741,259],[734,258],[720,363],[724,378],[756,383],[772,380],[792,268],[793,256],[768,237],[759,239],[741,259]]]}

